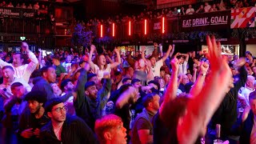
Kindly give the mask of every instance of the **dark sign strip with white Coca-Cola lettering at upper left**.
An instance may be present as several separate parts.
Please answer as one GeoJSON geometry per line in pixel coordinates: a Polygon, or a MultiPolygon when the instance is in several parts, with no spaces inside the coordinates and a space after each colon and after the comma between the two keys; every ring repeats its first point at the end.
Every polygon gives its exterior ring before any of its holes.
{"type": "Polygon", "coordinates": [[[35,10],[18,9],[10,7],[0,7],[0,17],[2,18],[34,18],[35,10]]]}

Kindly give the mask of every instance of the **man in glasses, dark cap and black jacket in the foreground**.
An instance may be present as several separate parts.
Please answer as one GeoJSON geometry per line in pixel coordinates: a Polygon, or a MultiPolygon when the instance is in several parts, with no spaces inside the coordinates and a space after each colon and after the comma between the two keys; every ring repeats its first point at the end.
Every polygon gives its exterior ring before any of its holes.
{"type": "Polygon", "coordinates": [[[98,143],[86,122],[66,115],[66,106],[60,98],[46,102],[45,110],[51,121],[40,132],[42,144],[98,143]]]}

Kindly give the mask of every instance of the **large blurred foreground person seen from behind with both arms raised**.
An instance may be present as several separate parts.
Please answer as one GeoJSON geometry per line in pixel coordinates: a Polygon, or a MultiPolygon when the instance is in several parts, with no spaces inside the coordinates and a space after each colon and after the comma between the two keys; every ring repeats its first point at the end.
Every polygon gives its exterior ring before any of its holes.
{"type": "MultiPolygon", "coordinates": [[[[154,143],[185,144],[196,142],[198,136],[205,133],[206,123],[210,121],[214,111],[222,102],[228,90],[231,71],[226,59],[223,59],[218,52],[215,38],[210,40],[210,37],[207,36],[207,44],[210,50],[210,80],[206,81],[203,89],[194,93],[190,99],[187,97],[176,98],[178,59],[172,60],[171,64],[174,71],[171,75],[171,81],[167,87],[162,106],[154,118],[154,143]]],[[[205,74],[202,74],[201,77],[205,77],[205,74]]],[[[191,92],[191,94],[193,93],[191,92]]]]}

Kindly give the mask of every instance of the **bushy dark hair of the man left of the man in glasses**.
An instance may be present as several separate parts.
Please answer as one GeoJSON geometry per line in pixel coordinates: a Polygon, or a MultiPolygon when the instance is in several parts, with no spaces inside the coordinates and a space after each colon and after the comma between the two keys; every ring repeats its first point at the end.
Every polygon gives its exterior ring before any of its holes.
{"type": "Polygon", "coordinates": [[[45,103],[47,100],[46,93],[42,90],[30,91],[28,94],[25,95],[24,99],[26,101],[37,101],[39,103],[45,103]]]}

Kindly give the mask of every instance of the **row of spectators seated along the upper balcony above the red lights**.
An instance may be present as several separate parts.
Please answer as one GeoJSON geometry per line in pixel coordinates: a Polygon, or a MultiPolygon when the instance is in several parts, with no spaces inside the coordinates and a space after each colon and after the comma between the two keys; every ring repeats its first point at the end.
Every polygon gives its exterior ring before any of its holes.
{"type": "Polygon", "coordinates": [[[104,18],[91,18],[90,20],[84,21],[79,20],[76,23],[80,23],[83,26],[99,26],[101,24],[111,25],[114,23],[124,23],[124,22],[140,22],[144,19],[158,19],[158,18],[171,18],[179,15],[188,14],[202,14],[209,12],[216,12],[219,10],[232,10],[242,7],[255,6],[255,0],[222,0],[221,2],[205,2],[204,5],[189,5],[180,6],[173,8],[164,8],[160,10],[146,10],[144,9],[140,14],[117,14],[115,16],[104,18]]]}

